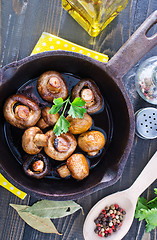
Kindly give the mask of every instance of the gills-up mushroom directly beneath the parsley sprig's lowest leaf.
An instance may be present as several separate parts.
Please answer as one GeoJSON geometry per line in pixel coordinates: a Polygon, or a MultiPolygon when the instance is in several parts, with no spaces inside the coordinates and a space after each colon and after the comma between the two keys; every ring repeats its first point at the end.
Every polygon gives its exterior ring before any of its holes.
{"type": "Polygon", "coordinates": [[[44,151],[49,157],[63,161],[75,151],[77,142],[71,133],[63,133],[56,137],[53,130],[50,130],[45,135],[48,137],[48,145],[44,147],[44,151]]]}

